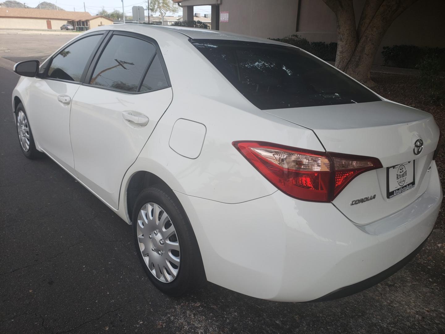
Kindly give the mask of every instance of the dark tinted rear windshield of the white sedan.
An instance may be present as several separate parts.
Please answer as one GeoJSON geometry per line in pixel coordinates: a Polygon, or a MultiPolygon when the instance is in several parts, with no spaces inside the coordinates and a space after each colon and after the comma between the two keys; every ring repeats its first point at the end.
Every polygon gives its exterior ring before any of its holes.
{"type": "Polygon", "coordinates": [[[191,43],[261,110],[380,101],[340,71],[291,46],[203,39],[191,43]]]}

